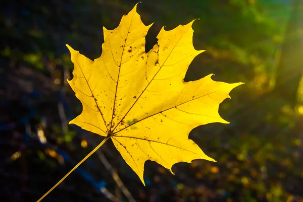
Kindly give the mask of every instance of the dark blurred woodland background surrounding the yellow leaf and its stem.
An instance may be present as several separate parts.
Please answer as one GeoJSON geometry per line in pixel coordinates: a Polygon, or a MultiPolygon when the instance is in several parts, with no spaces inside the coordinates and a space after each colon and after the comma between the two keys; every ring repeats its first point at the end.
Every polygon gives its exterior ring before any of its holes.
{"type": "MultiPolygon", "coordinates": [[[[141,0],[146,51],[162,26],[193,24],[198,55],[185,81],[245,82],[219,113],[231,124],[189,138],[218,162],[146,162],[142,185],[107,142],[43,201],[303,201],[303,1],[141,0]]],[[[66,43],[98,57],[133,0],[0,3],[0,201],[36,201],[102,137],[68,125],[81,103],[67,85],[66,43]]]]}

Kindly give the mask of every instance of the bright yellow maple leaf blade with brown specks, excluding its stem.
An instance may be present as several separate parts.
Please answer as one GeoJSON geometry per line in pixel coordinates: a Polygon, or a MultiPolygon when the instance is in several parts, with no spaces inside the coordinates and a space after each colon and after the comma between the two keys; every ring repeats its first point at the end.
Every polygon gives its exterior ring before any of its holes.
{"type": "Polygon", "coordinates": [[[162,28],[146,53],[151,25],[142,23],[135,6],[116,29],[104,28],[99,58],[92,61],[67,45],[74,63],[68,83],[83,106],[69,123],[110,138],[143,184],[146,160],[170,172],[178,162],[215,161],[188,134],[199,125],[228,123],[218,113],[219,104],[242,84],[216,82],[212,75],[183,81],[190,62],[204,51],[193,47],[192,23],[162,28]]]}

